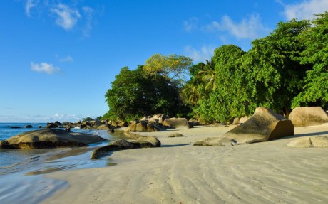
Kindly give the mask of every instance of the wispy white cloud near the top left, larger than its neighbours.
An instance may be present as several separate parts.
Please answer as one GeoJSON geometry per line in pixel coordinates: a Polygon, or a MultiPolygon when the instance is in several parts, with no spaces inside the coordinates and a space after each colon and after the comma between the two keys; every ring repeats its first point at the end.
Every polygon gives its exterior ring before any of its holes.
{"type": "Polygon", "coordinates": [[[71,9],[65,4],[58,4],[51,9],[51,12],[57,14],[56,23],[66,31],[73,28],[81,15],[77,9],[71,9]]]}

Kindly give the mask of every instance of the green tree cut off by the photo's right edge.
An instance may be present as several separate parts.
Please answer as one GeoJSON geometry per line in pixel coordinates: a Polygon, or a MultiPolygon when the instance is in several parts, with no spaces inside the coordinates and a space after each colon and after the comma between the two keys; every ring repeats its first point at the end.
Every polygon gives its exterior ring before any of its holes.
{"type": "Polygon", "coordinates": [[[302,92],[292,101],[292,107],[302,105],[321,105],[328,102],[328,12],[318,14],[312,27],[303,31],[299,41],[306,49],[301,53],[301,64],[312,69],[304,78],[302,92]]]}

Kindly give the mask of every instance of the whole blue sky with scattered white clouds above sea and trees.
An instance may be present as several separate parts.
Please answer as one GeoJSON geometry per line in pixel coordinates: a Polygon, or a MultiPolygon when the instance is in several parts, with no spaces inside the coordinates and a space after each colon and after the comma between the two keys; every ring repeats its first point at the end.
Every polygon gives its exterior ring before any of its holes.
{"type": "Polygon", "coordinates": [[[220,45],[248,50],[277,22],[327,10],[327,0],[1,1],[0,122],[103,115],[124,66],[155,53],[198,63],[220,45]]]}

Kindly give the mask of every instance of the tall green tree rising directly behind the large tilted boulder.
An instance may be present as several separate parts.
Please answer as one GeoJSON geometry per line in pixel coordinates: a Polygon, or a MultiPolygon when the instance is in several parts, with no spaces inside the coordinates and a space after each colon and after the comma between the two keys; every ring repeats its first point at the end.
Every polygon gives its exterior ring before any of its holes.
{"type": "Polygon", "coordinates": [[[252,42],[252,49],[242,58],[247,109],[267,107],[289,114],[308,69],[299,63],[305,49],[299,35],[307,28],[309,21],[280,22],[269,36],[252,42]]]}

